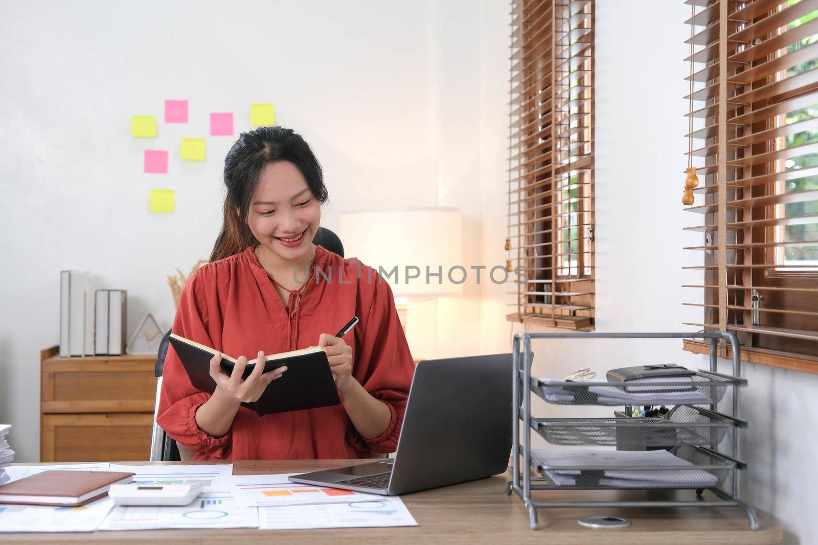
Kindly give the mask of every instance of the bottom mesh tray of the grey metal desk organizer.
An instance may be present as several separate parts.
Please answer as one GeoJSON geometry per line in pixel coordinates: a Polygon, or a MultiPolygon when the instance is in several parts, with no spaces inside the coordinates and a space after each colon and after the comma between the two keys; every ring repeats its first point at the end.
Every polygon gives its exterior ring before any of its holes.
{"type": "Polygon", "coordinates": [[[542,476],[538,488],[553,489],[712,489],[721,488],[744,464],[700,447],[670,450],[689,467],[664,466],[610,469],[605,467],[543,467],[532,455],[531,465],[542,476]],[[545,485],[544,487],[542,485],[545,485]]]}

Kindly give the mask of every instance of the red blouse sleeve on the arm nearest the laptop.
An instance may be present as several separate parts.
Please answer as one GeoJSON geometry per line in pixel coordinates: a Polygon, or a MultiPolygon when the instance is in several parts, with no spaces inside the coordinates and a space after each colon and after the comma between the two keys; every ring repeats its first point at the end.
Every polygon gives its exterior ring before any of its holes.
{"type": "Polygon", "coordinates": [[[389,426],[374,439],[363,439],[377,453],[393,453],[398,447],[415,363],[403,334],[392,289],[380,275],[372,277],[371,306],[363,319],[357,346],[355,378],[373,397],[389,407],[389,426]]]}

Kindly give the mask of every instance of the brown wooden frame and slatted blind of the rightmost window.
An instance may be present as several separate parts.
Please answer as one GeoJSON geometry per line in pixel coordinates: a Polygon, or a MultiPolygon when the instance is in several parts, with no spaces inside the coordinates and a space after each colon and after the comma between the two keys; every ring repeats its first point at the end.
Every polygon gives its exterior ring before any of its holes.
{"type": "MultiPolygon", "coordinates": [[[[703,288],[701,302],[685,305],[701,307],[704,319],[703,323],[685,324],[733,331],[748,361],[818,373],[818,270],[799,270],[797,264],[784,266],[776,261],[780,248],[786,248],[786,241],[778,234],[784,232],[785,225],[793,225],[780,217],[785,207],[784,199],[776,199],[781,195],[780,182],[799,179],[775,177],[792,172],[785,171],[784,158],[796,156],[782,152],[789,135],[777,129],[787,115],[784,108],[797,111],[811,107],[805,106],[807,103],[818,105],[818,83],[810,83],[809,78],[781,83],[786,79],[781,74],[787,72],[788,60],[777,60],[784,53],[798,51],[784,42],[792,38],[795,44],[818,34],[816,11],[809,11],[807,3],[799,3],[776,4],[775,9],[762,12],[759,7],[766,4],[748,2],[730,7],[734,11],[728,13],[727,2],[694,2],[703,9],[687,21],[705,27],[694,29],[687,41],[702,46],[698,52],[691,51],[688,60],[707,64],[704,69],[691,70],[690,79],[704,83],[692,100],[704,105],[695,106],[688,114],[696,117],[694,112],[699,112],[704,119],[704,127],[689,135],[704,141],[689,153],[704,158],[704,165],[698,167],[704,185],[694,190],[694,194],[703,194],[704,205],[696,203],[687,210],[703,213],[705,225],[695,230],[705,235],[702,246],[686,248],[704,250],[703,265],[686,268],[703,270],[703,284],[685,285],[703,288]],[[790,11],[782,16],[785,10],[790,11]],[[782,26],[781,21],[789,16],[799,24],[784,22],[782,26]],[[780,38],[792,29],[798,31],[780,38]],[[745,71],[752,76],[743,78],[745,71]],[[695,79],[694,72],[707,75],[695,79]],[[720,96],[726,100],[722,102],[720,96]],[[771,129],[780,136],[766,136],[771,129]],[[754,305],[757,296],[761,296],[760,308],[754,305]]],[[[807,56],[793,58],[797,59],[794,66],[801,65],[807,56]]],[[[818,67],[813,65],[809,70],[818,67]]],[[[786,75],[791,78],[802,73],[786,75]]],[[[807,153],[802,150],[800,156],[807,153]]],[[[807,176],[810,174],[801,178],[807,176]]],[[[806,195],[791,202],[812,199],[806,195]]],[[[707,346],[694,341],[685,342],[685,350],[708,353],[707,346]]],[[[721,347],[721,355],[726,355],[726,346],[721,347]]]]}

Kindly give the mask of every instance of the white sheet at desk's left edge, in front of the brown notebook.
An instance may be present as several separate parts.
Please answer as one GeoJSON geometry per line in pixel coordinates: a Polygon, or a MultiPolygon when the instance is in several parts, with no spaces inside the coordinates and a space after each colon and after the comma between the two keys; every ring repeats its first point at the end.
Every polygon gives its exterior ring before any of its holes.
{"type": "Polygon", "coordinates": [[[79,507],[0,506],[0,532],[93,532],[114,502],[107,496],[79,507]]]}

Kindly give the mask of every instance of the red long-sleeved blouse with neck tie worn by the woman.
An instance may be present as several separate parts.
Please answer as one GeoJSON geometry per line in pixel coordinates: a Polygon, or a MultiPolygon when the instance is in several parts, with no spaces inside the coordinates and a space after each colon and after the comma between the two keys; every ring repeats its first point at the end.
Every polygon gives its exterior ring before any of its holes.
{"type": "MultiPolygon", "coordinates": [[[[299,272],[302,281],[305,276],[299,272]]],[[[310,281],[290,292],[285,308],[253,248],[247,248],[196,270],[179,298],[173,333],[252,360],[259,350],[269,355],[317,346],[321,333],[334,335],[353,316],[361,321],[344,336],[353,349],[353,377],[392,413],[381,436],[363,439],[338,405],[263,417],[240,407],[231,430],[216,439],[195,420],[196,409],[210,395],[191,385],[172,348],[164,362],[157,422],[192,450],[195,460],[368,458],[373,450],[393,452],[415,365],[392,290],[370,267],[318,246],[310,281]]]]}

